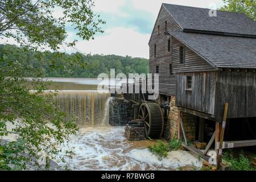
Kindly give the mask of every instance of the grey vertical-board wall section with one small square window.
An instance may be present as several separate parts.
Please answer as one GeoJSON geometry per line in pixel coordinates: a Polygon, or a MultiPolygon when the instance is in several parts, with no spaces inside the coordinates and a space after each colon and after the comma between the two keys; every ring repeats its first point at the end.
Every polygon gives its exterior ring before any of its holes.
{"type": "Polygon", "coordinates": [[[214,115],[216,72],[177,73],[177,106],[214,115]],[[187,75],[192,89],[186,90],[187,75]]]}

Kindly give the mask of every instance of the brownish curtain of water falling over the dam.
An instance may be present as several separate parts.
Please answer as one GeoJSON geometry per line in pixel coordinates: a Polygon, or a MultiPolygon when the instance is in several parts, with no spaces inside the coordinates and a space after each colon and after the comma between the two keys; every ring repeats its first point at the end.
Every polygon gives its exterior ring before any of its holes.
{"type": "Polygon", "coordinates": [[[108,125],[109,101],[109,92],[97,91],[59,91],[53,98],[55,106],[80,127],[108,125]]]}

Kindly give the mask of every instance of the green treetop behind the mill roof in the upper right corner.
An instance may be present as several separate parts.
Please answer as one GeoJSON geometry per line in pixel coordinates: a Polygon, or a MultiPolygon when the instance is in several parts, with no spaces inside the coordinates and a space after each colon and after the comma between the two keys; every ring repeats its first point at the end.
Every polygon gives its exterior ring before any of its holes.
{"type": "Polygon", "coordinates": [[[255,0],[223,0],[224,6],[220,8],[223,11],[233,11],[245,13],[256,21],[256,1],[255,0]]]}

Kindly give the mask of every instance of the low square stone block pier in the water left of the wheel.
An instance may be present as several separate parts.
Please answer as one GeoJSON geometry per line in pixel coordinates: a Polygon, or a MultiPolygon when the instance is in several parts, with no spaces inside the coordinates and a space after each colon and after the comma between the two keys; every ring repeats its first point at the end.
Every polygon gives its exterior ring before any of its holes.
{"type": "Polygon", "coordinates": [[[143,123],[138,125],[136,122],[129,122],[129,124],[125,126],[125,137],[130,141],[146,139],[143,123]]]}

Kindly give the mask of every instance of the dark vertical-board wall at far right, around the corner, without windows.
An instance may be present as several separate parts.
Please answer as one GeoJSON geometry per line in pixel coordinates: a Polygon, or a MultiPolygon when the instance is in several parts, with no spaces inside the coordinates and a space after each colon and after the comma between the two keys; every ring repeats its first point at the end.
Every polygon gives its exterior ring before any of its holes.
{"type": "Polygon", "coordinates": [[[217,72],[215,118],[222,118],[228,102],[228,118],[256,117],[256,73],[217,72]]]}

